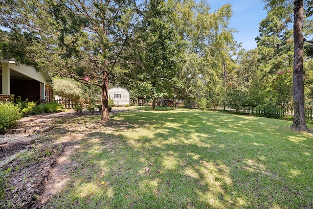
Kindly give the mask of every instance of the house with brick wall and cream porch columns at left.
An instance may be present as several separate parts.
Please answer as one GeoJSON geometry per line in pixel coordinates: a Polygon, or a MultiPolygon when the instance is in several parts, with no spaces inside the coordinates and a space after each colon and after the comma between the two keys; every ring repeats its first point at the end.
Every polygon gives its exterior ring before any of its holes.
{"type": "Polygon", "coordinates": [[[21,96],[22,101],[53,101],[52,78],[46,72],[17,65],[14,60],[0,59],[0,101],[21,96]]]}

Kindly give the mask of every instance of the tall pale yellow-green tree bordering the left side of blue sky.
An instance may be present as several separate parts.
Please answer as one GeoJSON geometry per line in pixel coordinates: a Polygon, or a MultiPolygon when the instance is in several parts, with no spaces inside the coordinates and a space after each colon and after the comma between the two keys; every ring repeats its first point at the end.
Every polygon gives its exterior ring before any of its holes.
{"type": "Polygon", "coordinates": [[[214,12],[210,9],[206,0],[200,3],[183,0],[176,7],[179,15],[176,27],[187,44],[181,81],[185,96],[194,100],[208,97],[209,93],[210,97],[216,95],[215,87],[223,83],[223,69],[231,66],[229,51],[234,32],[228,27],[231,5],[225,4],[214,12]]]}

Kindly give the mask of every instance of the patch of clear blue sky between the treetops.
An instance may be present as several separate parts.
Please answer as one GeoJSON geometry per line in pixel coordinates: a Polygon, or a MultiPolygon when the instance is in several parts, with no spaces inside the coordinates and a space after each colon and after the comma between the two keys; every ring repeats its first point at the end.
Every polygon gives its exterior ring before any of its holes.
{"type": "Polygon", "coordinates": [[[256,48],[255,37],[259,35],[259,23],[266,18],[267,11],[261,0],[208,0],[212,11],[226,3],[230,3],[233,16],[230,19],[230,27],[238,31],[234,38],[246,50],[256,48]]]}

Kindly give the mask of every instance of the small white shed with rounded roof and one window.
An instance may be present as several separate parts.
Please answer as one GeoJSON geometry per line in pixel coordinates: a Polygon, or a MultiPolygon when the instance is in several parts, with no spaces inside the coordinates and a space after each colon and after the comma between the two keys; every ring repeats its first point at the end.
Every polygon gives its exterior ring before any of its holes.
{"type": "Polygon", "coordinates": [[[130,93],[127,89],[120,86],[113,86],[109,88],[109,98],[112,98],[114,105],[129,105],[130,104],[130,93]]]}

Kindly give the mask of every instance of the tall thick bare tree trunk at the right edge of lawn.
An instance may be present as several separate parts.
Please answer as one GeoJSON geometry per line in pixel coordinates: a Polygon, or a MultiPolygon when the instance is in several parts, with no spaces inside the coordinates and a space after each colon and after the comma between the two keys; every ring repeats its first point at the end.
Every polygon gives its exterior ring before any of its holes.
{"type": "Polygon", "coordinates": [[[294,1],[294,59],[293,59],[293,107],[294,118],[291,128],[308,131],[304,110],[304,81],[303,81],[303,0],[294,1]]]}

